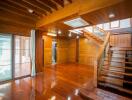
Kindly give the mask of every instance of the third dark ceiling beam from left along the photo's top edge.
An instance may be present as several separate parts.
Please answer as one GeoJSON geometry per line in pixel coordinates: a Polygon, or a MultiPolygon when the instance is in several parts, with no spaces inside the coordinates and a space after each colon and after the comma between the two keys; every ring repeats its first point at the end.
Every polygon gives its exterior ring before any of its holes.
{"type": "Polygon", "coordinates": [[[50,0],[37,0],[37,2],[47,5],[55,10],[58,10],[57,5],[50,0]]]}

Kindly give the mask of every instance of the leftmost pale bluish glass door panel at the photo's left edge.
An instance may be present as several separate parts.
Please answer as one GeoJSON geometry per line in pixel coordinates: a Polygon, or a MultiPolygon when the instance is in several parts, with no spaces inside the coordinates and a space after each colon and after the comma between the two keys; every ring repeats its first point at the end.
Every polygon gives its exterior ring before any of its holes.
{"type": "Polygon", "coordinates": [[[12,36],[0,34],[0,82],[12,79],[12,36]]]}

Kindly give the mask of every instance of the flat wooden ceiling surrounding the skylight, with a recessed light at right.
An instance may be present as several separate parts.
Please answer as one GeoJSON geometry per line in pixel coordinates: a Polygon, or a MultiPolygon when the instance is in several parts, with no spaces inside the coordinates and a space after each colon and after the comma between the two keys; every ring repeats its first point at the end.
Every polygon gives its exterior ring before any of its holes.
{"type": "Polygon", "coordinates": [[[63,22],[66,20],[70,20],[73,18],[81,17],[91,25],[96,25],[100,23],[105,23],[105,22],[110,22],[113,20],[118,20],[118,19],[125,19],[125,18],[130,18],[132,17],[132,12],[130,9],[132,9],[132,1],[131,0],[124,0],[123,2],[120,2],[118,4],[105,7],[90,13],[82,14],[82,15],[72,15],[67,18],[61,19],[59,21],[56,21],[54,23],[45,25],[43,27],[40,27],[41,30],[43,31],[48,31],[48,29],[56,29],[56,30],[61,30],[63,32],[63,36],[68,36],[67,33],[68,30],[73,29],[70,26],[65,25],[63,22]],[[114,13],[115,17],[114,18],[109,18],[109,14],[114,13]]]}

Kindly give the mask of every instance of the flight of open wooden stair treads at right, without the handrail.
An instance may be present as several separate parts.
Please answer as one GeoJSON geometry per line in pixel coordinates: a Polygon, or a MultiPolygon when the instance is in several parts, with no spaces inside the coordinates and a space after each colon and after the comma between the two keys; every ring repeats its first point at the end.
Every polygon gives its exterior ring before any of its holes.
{"type": "Polygon", "coordinates": [[[111,47],[99,72],[98,87],[132,97],[132,47],[111,47]]]}

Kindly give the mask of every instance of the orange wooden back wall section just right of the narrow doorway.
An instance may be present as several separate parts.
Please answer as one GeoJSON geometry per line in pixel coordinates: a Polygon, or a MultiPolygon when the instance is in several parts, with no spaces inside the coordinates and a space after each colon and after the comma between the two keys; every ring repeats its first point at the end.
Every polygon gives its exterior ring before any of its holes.
{"type": "Polygon", "coordinates": [[[68,40],[57,39],[57,64],[68,62],[68,40]]]}

